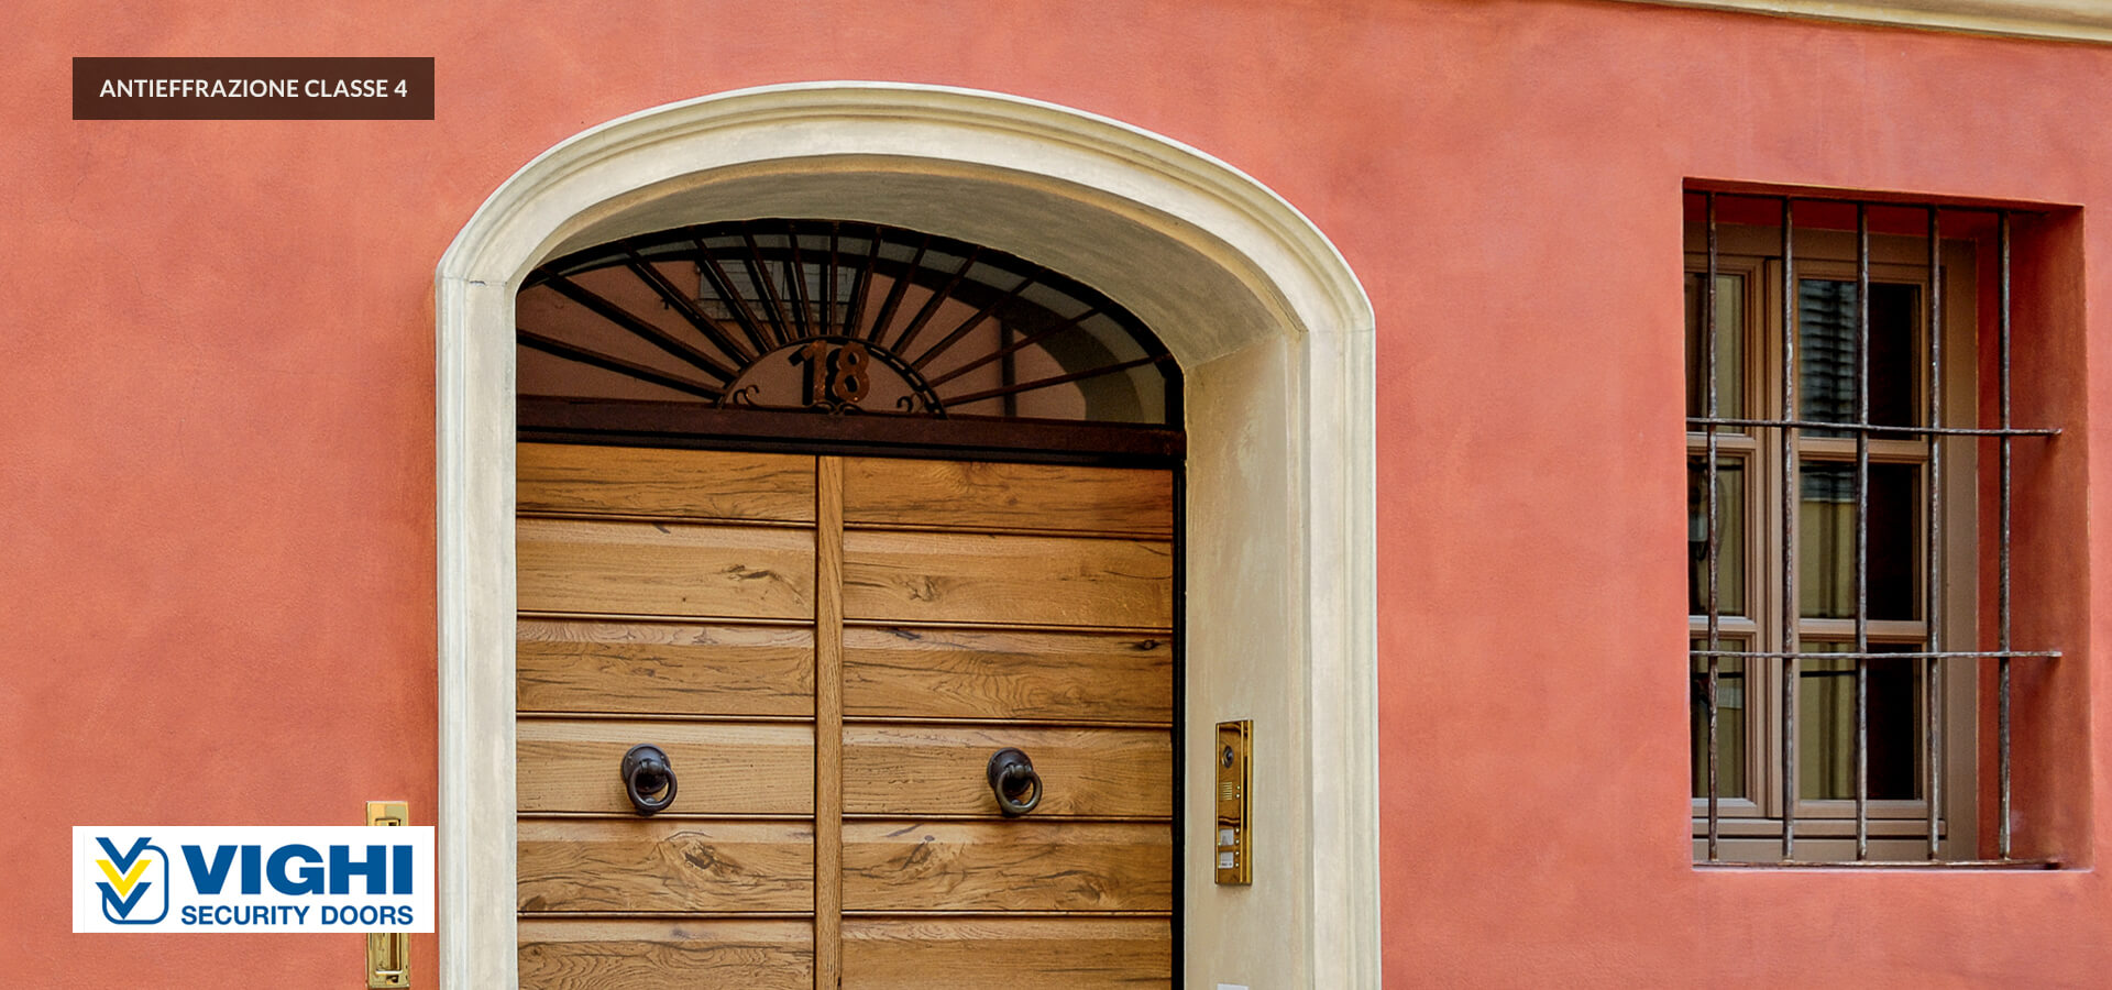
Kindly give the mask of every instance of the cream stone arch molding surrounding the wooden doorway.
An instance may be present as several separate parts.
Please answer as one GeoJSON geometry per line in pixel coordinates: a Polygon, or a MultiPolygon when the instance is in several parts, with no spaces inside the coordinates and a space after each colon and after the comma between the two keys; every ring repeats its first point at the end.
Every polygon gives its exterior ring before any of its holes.
{"type": "MultiPolygon", "coordinates": [[[[1204,859],[1191,986],[1379,986],[1373,310],[1238,169],[1010,95],[809,82],[596,127],[505,182],[437,270],[444,986],[513,986],[513,291],[555,253],[678,224],[828,215],[1012,251],[1124,302],[1187,378],[1187,724],[1257,732],[1255,887],[1204,859]]],[[[1189,760],[1183,775],[1208,779],[1189,760]]]]}

